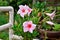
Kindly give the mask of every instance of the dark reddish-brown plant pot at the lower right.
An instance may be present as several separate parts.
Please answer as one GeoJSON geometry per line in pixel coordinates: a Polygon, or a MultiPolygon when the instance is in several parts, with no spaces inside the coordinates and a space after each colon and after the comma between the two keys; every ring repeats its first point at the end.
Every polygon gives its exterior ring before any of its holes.
{"type": "Polygon", "coordinates": [[[39,32],[41,33],[41,38],[45,38],[45,32],[47,33],[46,36],[48,37],[48,39],[60,37],[60,31],[46,31],[43,29],[39,29],[39,32]]]}

